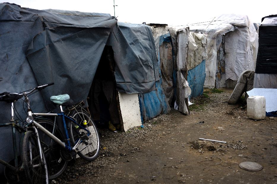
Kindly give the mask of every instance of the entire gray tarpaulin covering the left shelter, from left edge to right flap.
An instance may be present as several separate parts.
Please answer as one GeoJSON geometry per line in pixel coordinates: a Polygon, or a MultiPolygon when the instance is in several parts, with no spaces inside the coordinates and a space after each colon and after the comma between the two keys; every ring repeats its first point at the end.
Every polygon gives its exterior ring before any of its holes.
{"type": "MultiPolygon", "coordinates": [[[[155,90],[159,67],[147,25],[117,23],[110,14],[44,11],[6,3],[0,4],[0,14],[0,92],[55,83],[30,97],[34,111],[50,109],[52,95],[68,93],[75,102],[85,99],[105,45],[114,50],[118,91],[155,90]]],[[[22,102],[15,106],[25,119],[22,102]]],[[[10,105],[0,102],[0,108],[1,120],[7,122],[10,105]]],[[[3,142],[11,145],[6,138],[10,128],[0,131],[0,158],[7,160],[3,142]]]]}

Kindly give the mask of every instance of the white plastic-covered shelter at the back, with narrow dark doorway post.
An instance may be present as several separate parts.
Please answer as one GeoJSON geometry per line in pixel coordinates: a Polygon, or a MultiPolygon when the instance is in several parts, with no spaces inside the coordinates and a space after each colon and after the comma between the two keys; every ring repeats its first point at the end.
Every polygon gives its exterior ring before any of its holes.
{"type": "Polygon", "coordinates": [[[223,14],[187,26],[208,35],[206,88],[234,87],[241,72],[255,69],[258,35],[247,16],[223,14]]]}

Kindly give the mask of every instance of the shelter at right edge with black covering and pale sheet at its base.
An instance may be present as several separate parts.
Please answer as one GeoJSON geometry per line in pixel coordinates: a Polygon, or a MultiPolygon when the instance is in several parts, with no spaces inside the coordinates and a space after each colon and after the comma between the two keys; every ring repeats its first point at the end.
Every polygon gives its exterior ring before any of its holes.
{"type": "Polygon", "coordinates": [[[265,96],[266,116],[277,117],[277,15],[262,18],[259,49],[251,96],[265,96]]]}

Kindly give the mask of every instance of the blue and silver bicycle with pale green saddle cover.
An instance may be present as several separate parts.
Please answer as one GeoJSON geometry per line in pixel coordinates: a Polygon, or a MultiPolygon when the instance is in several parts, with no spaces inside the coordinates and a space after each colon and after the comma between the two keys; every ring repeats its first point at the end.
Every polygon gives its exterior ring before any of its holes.
{"type": "MultiPolygon", "coordinates": [[[[65,114],[62,109],[62,104],[65,100],[54,100],[56,104],[58,104],[60,108],[60,113],[35,113],[32,112],[30,107],[30,101],[28,99],[27,94],[33,93],[36,90],[42,90],[47,86],[53,85],[46,84],[39,86],[37,88],[32,89],[30,92],[24,94],[25,102],[28,107],[28,116],[26,117],[26,121],[29,123],[29,126],[33,127],[34,129],[38,130],[39,137],[43,138],[42,140],[42,149],[46,153],[47,156],[47,150],[48,150],[48,144],[49,141],[45,141],[45,137],[50,138],[56,143],[56,146],[60,146],[59,155],[60,158],[56,157],[54,161],[61,162],[64,161],[70,161],[73,159],[73,157],[78,154],[81,158],[87,160],[87,161],[93,161],[97,158],[99,155],[100,150],[100,141],[99,141],[99,134],[96,129],[96,125],[94,124],[93,120],[91,120],[90,115],[84,111],[82,108],[73,108],[71,109],[71,114],[65,114]],[[73,111],[73,112],[72,112],[73,111]],[[62,137],[60,136],[61,133],[56,127],[55,123],[51,122],[50,120],[41,119],[41,120],[34,120],[33,116],[40,116],[40,117],[62,117],[65,137],[66,137],[66,143],[61,141],[62,137]],[[65,121],[67,119],[67,122],[65,121]],[[43,127],[43,124],[48,124],[49,127],[52,126],[53,130],[52,133],[47,130],[47,128],[43,127]],[[53,132],[58,132],[60,137],[56,136],[53,132]],[[71,146],[72,145],[72,146],[71,146]]],[[[52,96],[57,97],[57,96],[52,96]]],[[[51,97],[51,98],[52,98],[51,97]]],[[[66,97],[66,100],[69,99],[68,95],[63,95],[63,97],[66,97]]],[[[55,146],[55,147],[56,147],[55,146]]],[[[53,151],[53,150],[52,150],[53,151]]],[[[51,152],[50,152],[51,153],[51,152]]],[[[54,155],[54,154],[53,154],[54,155]]],[[[47,157],[47,160],[49,158],[47,157]]],[[[49,160],[47,161],[49,163],[49,160]]],[[[52,175],[50,178],[57,177],[58,175],[61,175],[61,173],[64,171],[66,167],[66,164],[60,165],[57,169],[57,173],[55,175],[52,175]]],[[[53,169],[53,167],[51,168],[53,169]]]]}

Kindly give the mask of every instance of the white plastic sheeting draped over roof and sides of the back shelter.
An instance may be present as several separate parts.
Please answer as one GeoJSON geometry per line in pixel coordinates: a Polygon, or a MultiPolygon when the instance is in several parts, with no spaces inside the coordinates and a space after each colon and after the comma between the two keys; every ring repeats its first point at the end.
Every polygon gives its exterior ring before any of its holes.
{"type": "MultiPolygon", "coordinates": [[[[227,43],[233,49],[231,56],[226,56],[226,80],[238,80],[238,76],[244,70],[254,70],[258,49],[258,34],[254,25],[245,15],[222,14],[201,23],[188,24],[190,31],[194,33],[205,33],[208,35],[208,57],[206,59],[205,87],[215,86],[217,50],[222,42],[221,35],[229,31],[238,30],[238,43],[227,43]],[[241,41],[240,41],[241,40],[241,41]],[[237,44],[237,45],[236,45],[237,44]],[[243,48],[243,49],[241,49],[243,48]],[[235,58],[235,59],[234,59],[235,58]],[[241,67],[242,66],[242,67],[241,67]]],[[[233,35],[234,39],[236,34],[233,35]]],[[[225,42],[226,44],[226,42],[225,42]]],[[[225,46],[225,49],[227,48],[225,46]]]]}

